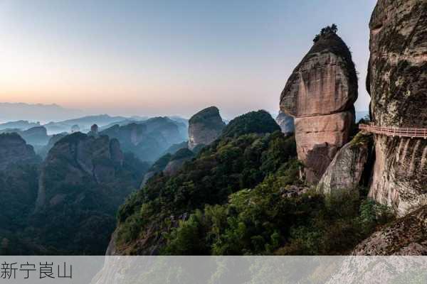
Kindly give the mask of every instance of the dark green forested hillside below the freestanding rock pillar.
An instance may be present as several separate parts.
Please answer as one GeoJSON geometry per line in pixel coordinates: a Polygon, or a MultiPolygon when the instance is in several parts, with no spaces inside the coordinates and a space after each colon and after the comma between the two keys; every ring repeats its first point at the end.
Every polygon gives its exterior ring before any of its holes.
{"type": "Polygon", "coordinates": [[[223,133],[122,205],[116,253],[339,254],[388,221],[363,191],[331,200],[305,187],[295,138],[264,111],[239,116],[223,133]]]}

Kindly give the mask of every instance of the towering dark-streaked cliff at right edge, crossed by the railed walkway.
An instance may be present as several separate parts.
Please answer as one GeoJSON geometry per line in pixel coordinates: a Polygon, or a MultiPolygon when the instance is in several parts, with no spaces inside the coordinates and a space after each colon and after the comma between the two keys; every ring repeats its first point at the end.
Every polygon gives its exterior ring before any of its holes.
{"type": "MultiPolygon", "coordinates": [[[[379,0],[371,29],[367,89],[376,126],[427,127],[427,2],[379,0]]],[[[427,140],[375,137],[369,195],[399,215],[427,202],[427,140]]]]}

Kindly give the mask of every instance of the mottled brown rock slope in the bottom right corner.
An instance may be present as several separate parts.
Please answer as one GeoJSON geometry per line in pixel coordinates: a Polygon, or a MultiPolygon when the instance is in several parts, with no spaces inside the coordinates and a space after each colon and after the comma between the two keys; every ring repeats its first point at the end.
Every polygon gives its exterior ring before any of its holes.
{"type": "Polygon", "coordinates": [[[427,207],[421,207],[376,231],[353,251],[356,256],[426,256],[427,207]]]}

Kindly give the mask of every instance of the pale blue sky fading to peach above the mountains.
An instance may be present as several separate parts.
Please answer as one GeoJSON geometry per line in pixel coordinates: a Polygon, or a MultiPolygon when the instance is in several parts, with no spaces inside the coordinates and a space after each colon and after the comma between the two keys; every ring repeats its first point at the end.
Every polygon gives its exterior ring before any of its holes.
{"type": "Polygon", "coordinates": [[[312,38],[336,23],[364,89],[375,0],[0,0],[0,102],[92,114],[277,113],[312,38]]]}

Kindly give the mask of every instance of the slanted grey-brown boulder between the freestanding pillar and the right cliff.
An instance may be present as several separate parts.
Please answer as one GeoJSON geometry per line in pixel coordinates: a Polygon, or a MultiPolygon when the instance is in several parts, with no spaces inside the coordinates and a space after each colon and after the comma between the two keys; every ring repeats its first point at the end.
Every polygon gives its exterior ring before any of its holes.
{"type": "Polygon", "coordinates": [[[358,194],[362,174],[367,167],[371,151],[372,136],[359,133],[342,147],[330,163],[317,185],[317,191],[325,195],[358,194]]]}

